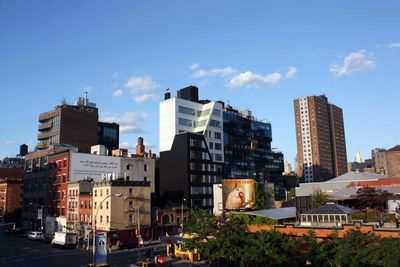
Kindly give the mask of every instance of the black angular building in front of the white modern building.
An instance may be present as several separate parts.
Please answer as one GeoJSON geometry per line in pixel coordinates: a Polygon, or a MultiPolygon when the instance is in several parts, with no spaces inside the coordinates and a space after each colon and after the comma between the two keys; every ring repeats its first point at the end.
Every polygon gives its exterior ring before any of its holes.
{"type": "Polygon", "coordinates": [[[223,163],[211,160],[202,134],[175,135],[171,150],[160,152],[159,204],[183,203],[213,208],[213,184],[221,183],[223,163]]]}

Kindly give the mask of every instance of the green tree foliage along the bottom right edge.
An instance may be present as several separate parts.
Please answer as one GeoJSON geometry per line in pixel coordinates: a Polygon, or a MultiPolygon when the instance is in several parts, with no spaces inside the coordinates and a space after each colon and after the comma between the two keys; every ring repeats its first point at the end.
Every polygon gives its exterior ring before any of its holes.
{"type": "Polygon", "coordinates": [[[216,220],[207,212],[190,213],[188,230],[198,238],[188,241],[203,259],[222,266],[399,266],[400,239],[376,238],[351,231],[316,240],[313,232],[292,238],[276,231],[247,232],[251,217],[231,215],[216,220]],[[222,222],[222,223],[221,223],[222,222]],[[202,236],[202,238],[200,238],[202,236]]]}

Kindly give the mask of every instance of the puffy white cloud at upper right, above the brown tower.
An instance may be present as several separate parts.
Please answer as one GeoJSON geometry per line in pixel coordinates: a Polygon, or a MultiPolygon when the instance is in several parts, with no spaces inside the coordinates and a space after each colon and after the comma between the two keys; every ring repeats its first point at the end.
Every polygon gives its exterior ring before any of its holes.
{"type": "Polygon", "coordinates": [[[353,72],[373,69],[375,62],[372,59],[367,59],[365,50],[351,52],[344,60],[343,65],[332,64],[330,71],[336,76],[350,75],[353,72]]]}

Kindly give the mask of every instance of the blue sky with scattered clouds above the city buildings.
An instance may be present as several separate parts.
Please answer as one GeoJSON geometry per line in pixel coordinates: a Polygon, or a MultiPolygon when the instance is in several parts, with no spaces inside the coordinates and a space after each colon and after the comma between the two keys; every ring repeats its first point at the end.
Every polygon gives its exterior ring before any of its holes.
{"type": "Polygon", "coordinates": [[[37,117],[83,92],[158,152],[163,92],[250,108],[293,163],[293,100],[343,108],[347,155],[399,143],[399,1],[1,1],[0,158],[36,144],[37,117]]]}

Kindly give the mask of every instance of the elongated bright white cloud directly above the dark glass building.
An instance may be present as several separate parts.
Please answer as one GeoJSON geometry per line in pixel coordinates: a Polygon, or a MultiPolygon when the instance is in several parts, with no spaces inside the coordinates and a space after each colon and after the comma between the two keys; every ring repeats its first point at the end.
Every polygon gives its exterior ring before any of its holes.
{"type": "Polygon", "coordinates": [[[242,86],[255,86],[255,87],[265,87],[275,83],[278,83],[282,79],[282,74],[279,72],[274,72],[261,76],[254,74],[251,71],[242,72],[239,75],[233,77],[229,81],[230,87],[242,87],[242,86]]]}

